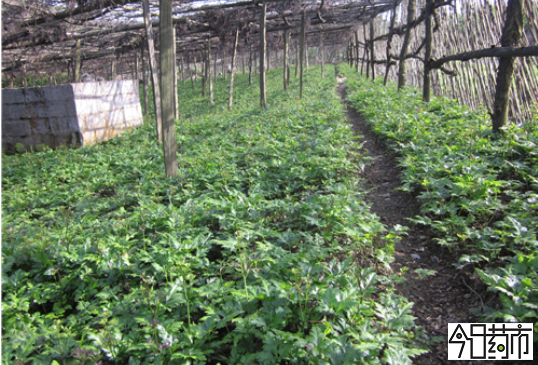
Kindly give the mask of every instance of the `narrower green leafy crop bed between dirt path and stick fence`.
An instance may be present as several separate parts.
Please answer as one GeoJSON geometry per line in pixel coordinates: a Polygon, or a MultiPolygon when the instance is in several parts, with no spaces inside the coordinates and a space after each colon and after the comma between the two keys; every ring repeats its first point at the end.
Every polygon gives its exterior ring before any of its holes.
{"type": "Polygon", "coordinates": [[[402,156],[403,189],[423,203],[412,221],[434,228],[440,245],[460,253],[457,266],[472,266],[499,293],[502,308],[483,308],[486,319],[536,323],[538,116],[495,137],[483,111],[443,98],[424,104],[416,90],[342,69],[349,101],[402,156]]]}

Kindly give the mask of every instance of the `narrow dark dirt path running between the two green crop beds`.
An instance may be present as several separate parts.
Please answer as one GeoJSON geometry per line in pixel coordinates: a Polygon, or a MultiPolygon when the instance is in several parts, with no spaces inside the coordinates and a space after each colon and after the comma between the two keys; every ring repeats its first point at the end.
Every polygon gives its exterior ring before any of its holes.
{"type": "MultiPolygon", "coordinates": [[[[337,92],[344,99],[345,86],[340,83],[337,92]]],[[[435,243],[432,232],[424,227],[413,226],[406,218],[420,213],[420,203],[414,196],[395,190],[401,186],[397,155],[387,151],[385,144],[370,131],[364,118],[353,108],[347,106],[348,123],[360,136],[361,152],[373,158],[361,177],[366,181],[363,187],[371,192],[366,201],[372,205],[387,228],[396,224],[409,227],[408,235],[395,247],[394,272],[400,268],[409,268],[407,281],[399,286],[399,293],[415,303],[412,315],[417,317],[415,323],[421,326],[427,335],[443,336],[448,333],[448,323],[479,322],[471,308],[478,308],[484,303],[493,306],[495,295],[485,292],[483,284],[477,279],[470,279],[470,272],[457,270],[453,263],[457,258],[448,250],[435,243]],[[435,270],[435,276],[419,279],[414,270],[422,268],[435,270]]],[[[471,276],[472,277],[472,276],[471,276]]],[[[445,340],[446,341],[446,340],[445,340]]],[[[415,364],[493,364],[489,361],[448,361],[447,344],[441,342],[430,346],[430,352],[414,359],[415,364]]],[[[507,362],[503,362],[507,364],[507,362]]],[[[521,362],[520,362],[521,363],[521,362]]]]}

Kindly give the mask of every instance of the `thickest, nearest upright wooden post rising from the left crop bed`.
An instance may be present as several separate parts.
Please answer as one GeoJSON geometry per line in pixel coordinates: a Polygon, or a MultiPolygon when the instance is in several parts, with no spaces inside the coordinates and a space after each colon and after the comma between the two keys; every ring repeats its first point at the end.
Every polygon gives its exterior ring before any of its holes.
{"type": "MultiPolygon", "coordinates": [[[[162,89],[162,121],[164,167],[167,177],[177,176],[177,142],[174,125],[175,53],[172,23],[172,0],[160,0],[160,68],[162,89]]],[[[177,90],[175,92],[177,94],[177,90]]]]}

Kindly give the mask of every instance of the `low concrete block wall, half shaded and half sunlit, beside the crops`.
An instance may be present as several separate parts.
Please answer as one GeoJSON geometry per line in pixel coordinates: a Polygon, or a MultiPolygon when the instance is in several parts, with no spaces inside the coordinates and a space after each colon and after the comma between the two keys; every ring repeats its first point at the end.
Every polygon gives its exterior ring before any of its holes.
{"type": "Polygon", "coordinates": [[[2,151],[91,145],[143,123],[138,81],[2,89],[2,151]]]}

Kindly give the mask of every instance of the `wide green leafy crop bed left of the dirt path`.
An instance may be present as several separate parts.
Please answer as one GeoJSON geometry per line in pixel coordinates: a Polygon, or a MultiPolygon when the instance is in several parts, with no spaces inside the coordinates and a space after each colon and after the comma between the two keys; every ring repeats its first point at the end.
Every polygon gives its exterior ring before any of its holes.
{"type": "Polygon", "coordinates": [[[180,87],[174,179],[152,124],[3,156],[4,363],[409,364],[424,352],[388,270],[398,232],[361,201],[334,79],[310,74],[302,101],[280,79],[269,73],[263,111],[242,75],[232,112],[223,83],[211,106],[199,85],[180,87]]]}

